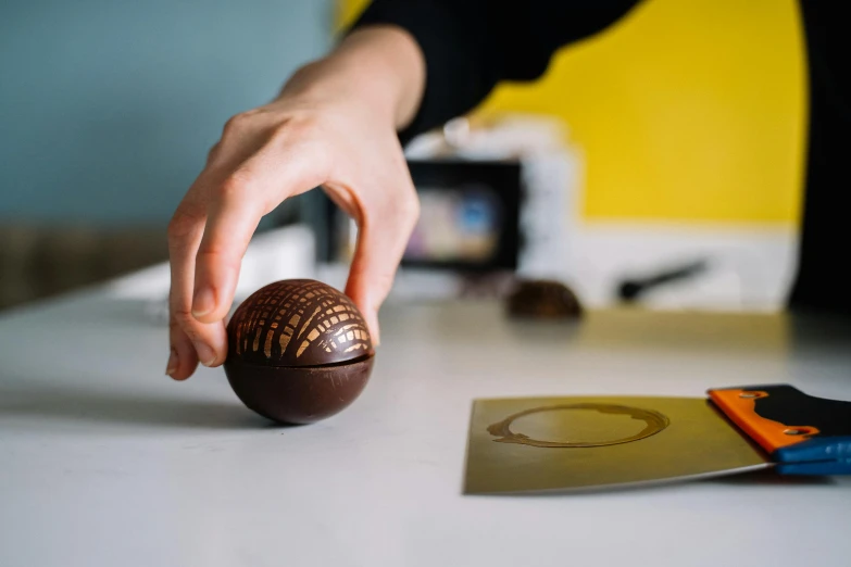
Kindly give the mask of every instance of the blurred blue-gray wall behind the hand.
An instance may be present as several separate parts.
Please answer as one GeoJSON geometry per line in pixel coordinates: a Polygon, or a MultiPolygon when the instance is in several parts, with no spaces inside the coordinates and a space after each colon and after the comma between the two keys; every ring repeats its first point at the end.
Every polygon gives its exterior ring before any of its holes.
{"type": "Polygon", "coordinates": [[[331,0],[2,0],[0,223],[165,224],[225,119],[331,20],[331,0]]]}

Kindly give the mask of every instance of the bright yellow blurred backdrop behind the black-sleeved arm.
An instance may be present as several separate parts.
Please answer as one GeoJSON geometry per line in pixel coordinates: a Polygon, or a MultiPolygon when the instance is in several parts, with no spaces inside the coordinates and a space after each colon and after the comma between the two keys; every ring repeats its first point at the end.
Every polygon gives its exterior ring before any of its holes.
{"type": "MultiPolygon", "coordinates": [[[[365,0],[339,0],[346,25],[365,0]]],[[[805,58],[794,0],[644,0],[477,111],[564,119],[589,219],[798,219],[805,58]]]]}

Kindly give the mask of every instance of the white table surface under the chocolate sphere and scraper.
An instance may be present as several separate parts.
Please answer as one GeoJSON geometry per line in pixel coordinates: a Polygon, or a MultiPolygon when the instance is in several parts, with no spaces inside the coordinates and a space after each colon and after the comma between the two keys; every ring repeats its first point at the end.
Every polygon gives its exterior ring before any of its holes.
{"type": "Polygon", "coordinates": [[[390,305],[363,395],[271,427],[105,289],[0,317],[0,566],[848,566],[851,479],[463,496],[478,396],[790,382],[851,400],[851,328],[771,315],[390,305]]]}

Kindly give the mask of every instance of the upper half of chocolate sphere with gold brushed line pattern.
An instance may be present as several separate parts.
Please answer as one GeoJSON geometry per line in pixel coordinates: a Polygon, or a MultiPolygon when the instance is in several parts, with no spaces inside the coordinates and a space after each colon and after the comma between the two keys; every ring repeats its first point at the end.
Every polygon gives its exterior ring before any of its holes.
{"type": "Polygon", "coordinates": [[[261,288],[239,305],[227,330],[228,358],[262,366],[328,366],[373,354],[354,303],[313,279],[261,288]]]}

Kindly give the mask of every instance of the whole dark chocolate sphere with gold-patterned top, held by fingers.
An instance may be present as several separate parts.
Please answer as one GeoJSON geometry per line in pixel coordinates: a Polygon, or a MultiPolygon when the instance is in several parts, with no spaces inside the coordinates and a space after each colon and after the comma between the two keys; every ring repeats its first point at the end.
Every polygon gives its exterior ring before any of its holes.
{"type": "Polygon", "coordinates": [[[373,368],[366,323],[343,293],[312,279],[276,281],[251,294],[227,326],[225,374],[249,408],[310,424],[351,404],[373,368]]]}

